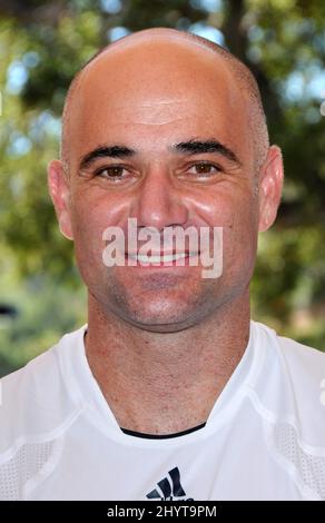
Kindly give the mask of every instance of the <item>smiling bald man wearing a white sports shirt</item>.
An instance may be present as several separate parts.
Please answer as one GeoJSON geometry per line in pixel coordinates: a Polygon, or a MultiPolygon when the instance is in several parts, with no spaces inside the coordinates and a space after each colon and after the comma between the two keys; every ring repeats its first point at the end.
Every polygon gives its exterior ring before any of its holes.
{"type": "Polygon", "coordinates": [[[325,497],[325,355],[249,320],[282,184],[256,83],[218,46],[152,29],[86,65],[49,189],[88,325],[2,381],[1,499],[325,497]],[[221,236],[181,250],[170,228],[221,236]]]}

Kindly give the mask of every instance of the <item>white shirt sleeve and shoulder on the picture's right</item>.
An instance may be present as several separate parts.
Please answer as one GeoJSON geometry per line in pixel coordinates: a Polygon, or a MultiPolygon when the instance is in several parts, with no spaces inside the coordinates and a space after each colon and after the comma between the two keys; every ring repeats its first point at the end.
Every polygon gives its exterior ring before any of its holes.
{"type": "Polygon", "coordinates": [[[325,499],[325,354],[253,322],[258,369],[247,395],[267,448],[306,500],[325,499]],[[323,388],[322,388],[323,387],[323,388]]]}

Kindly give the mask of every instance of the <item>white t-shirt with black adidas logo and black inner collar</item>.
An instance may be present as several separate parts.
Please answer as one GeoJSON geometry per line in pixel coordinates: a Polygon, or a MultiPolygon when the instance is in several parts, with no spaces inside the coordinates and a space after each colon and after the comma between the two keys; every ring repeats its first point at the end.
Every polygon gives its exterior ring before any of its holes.
{"type": "Polygon", "coordinates": [[[325,354],[252,322],[206,425],[145,438],[118,426],[86,328],[0,382],[0,500],[325,499],[325,354]]]}

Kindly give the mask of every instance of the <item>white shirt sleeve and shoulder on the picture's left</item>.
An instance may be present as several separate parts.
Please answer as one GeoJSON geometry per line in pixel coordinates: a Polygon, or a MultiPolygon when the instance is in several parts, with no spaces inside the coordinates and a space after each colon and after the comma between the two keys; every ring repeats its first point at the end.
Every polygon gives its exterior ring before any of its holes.
{"type": "MultiPolygon", "coordinates": [[[[83,329],[83,327],[82,327],[83,329]]],[[[0,500],[27,500],[56,467],[66,431],[82,407],[71,394],[69,361],[82,329],[0,381],[0,500]],[[68,353],[68,356],[65,356],[68,353]]]]}

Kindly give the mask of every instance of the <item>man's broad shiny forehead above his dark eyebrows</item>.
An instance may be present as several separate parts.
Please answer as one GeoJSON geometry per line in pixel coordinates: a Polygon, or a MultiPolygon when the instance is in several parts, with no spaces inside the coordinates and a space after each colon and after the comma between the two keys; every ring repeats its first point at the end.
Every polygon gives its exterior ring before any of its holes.
{"type": "Polygon", "coordinates": [[[233,71],[210,49],[179,38],[126,42],[82,71],[69,107],[69,149],[80,156],[111,140],[141,148],[148,139],[159,148],[211,135],[234,142],[247,127],[245,105],[233,71]]]}

